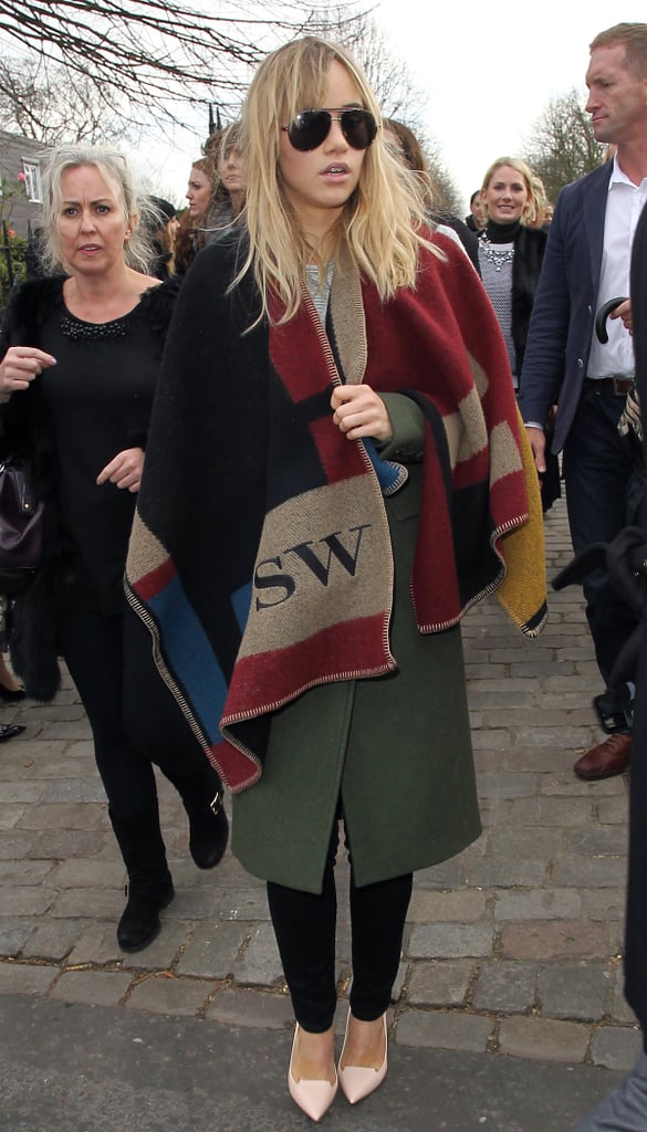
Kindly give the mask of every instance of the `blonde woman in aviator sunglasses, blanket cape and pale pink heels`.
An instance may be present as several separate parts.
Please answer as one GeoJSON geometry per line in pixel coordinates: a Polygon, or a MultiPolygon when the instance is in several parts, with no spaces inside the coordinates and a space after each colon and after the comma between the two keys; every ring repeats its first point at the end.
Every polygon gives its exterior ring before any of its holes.
{"type": "MultiPolygon", "coordinates": [[[[267,882],[288,1087],[320,1120],[338,1086],[354,1104],[386,1074],[414,869],[478,837],[459,621],[506,568],[520,581],[530,503],[489,303],[424,226],[348,52],[271,54],[241,148],[245,225],[196,260],[169,334],[128,589],[233,794],[233,852],[267,882]]],[[[511,602],[528,633],[543,597],[539,578],[511,602]]]]}

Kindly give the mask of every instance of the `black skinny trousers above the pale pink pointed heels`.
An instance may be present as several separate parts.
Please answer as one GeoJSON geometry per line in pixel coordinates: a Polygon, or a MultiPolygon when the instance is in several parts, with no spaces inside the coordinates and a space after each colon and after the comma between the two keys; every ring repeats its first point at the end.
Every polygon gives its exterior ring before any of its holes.
{"type": "MultiPolygon", "coordinates": [[[[339,826],[330,843],[321,895],[267,883],[270,914],[295,1018],[304,1030],[323,1034],[337,1005],[334,861],[339,826]]],[[[372,1022],[391,1001],[411,899],[411,873],[358,889],[350,874],[352,986],[355,1018],[372,1022]]]]}

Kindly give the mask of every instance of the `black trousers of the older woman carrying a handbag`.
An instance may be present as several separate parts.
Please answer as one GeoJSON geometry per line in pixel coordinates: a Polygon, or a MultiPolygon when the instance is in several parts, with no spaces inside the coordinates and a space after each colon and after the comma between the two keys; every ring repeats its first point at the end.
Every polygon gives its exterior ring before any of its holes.
{"type": "Polygon", "coordinates": [[[205,756],[155,668],[148,631],[129,609],[114,616],[66,610],[58,631],[111,811],[125,817],[156,812],[152,763],[185,778],[205,756]]]}

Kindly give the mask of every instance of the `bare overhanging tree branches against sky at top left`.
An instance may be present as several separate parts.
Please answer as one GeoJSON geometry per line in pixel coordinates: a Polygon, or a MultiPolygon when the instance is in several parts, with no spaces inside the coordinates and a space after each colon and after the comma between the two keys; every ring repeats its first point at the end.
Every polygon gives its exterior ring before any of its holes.
{"type": "MultiPolygon", "coordinates": [[[[63,65],[101,98],[118,92],[163,109],[239,93],[278,33],[298,35],[324,10],[326,0],[307,9],[295,0],[225,0],[218,15],[181,0],[0,0],[0,46],[63,65]]],[[[344,11],[341,22],[355,18],[354,5],[344,11]]]]}

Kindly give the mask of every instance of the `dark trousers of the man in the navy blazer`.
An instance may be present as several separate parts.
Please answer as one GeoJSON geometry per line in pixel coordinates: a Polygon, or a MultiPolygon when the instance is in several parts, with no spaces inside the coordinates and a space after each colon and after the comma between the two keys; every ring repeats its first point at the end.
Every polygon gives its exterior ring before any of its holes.
{"type": "MultiPolygon", "coordinates": [[[[632,463],[629,447],[618,434],[624,397],[597,393],[585,385],[564,447],[563,472],[573,550],[594,542],[611,542],[625,525],[632,463]]],[[[587,619],[604,683],[637,616],[611,584],[605,571],[590,574],[584,584],[587,619]]]]}

